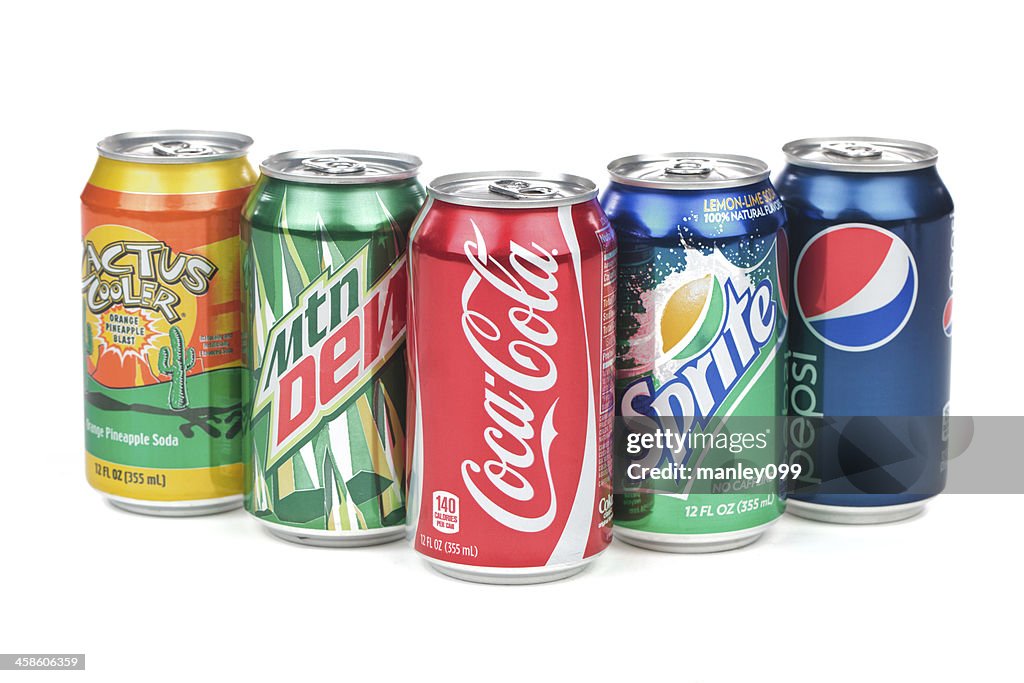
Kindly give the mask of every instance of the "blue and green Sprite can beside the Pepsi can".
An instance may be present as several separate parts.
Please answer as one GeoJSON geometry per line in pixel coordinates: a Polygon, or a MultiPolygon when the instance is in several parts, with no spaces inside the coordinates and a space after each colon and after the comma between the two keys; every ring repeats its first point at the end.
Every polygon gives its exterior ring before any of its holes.
{"type": "Polygon", "coordinates": [[[756,159],[609,164],[618,239],[615,537],[712,552],[784,510],[785,213],[756,159]]]}

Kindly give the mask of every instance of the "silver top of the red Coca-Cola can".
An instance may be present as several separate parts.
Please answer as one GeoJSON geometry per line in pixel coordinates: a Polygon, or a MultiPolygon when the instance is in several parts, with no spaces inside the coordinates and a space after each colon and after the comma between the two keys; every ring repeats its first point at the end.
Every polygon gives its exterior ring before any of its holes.
{"type": "Polygon", "coordinates": [[[463,206],[543,209],[580,204],[597,197],[597,185],[579,175],[536,171],[481,171],[434,178],[434,199],[463,206]]]}

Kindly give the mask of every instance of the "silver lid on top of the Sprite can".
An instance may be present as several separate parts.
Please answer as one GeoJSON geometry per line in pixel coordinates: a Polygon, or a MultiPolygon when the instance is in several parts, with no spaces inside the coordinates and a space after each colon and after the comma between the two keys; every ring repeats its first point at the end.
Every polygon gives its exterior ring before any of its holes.
{"type": "Polygon", "coordinates": [[[768,165],[752,157],[670,152],[623,157],[608,164],[615,182],[658,189],[740,187],[768,177],[768,165]]]}

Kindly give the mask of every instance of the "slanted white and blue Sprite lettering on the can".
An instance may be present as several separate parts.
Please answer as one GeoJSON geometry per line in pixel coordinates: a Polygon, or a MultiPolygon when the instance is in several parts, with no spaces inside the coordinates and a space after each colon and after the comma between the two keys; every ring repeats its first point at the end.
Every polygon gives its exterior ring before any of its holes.
{"type": "MultiPolygon", "coordinates": [[[[622,415],[673,418],[679,434],[689,433],[694,423],[707,426],[772,338],[776,315],[772,294],[770,280],[743,288],[742,294],[727,280],[722,322],[711,343],[688,360],[684,358],[684,365],[660,387],[655,389],[650,377],[630,385],[623,393],[622,415]]],[[[687,439],[687,458],[689,453],[687,439]]]]}

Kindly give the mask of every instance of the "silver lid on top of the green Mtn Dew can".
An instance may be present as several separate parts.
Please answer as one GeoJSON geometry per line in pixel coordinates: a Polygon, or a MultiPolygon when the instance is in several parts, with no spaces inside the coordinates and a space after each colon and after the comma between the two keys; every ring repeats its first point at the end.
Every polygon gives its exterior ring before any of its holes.
{"type": "Polygon", "coordinates": [[[271,178],[322,185],[365,185],[415,177],[423,162],[413,155],[369,150],[282,152],[260,171],[271,178]]]}

